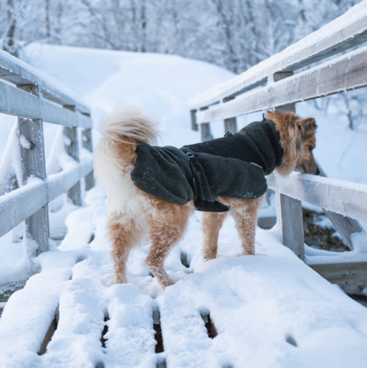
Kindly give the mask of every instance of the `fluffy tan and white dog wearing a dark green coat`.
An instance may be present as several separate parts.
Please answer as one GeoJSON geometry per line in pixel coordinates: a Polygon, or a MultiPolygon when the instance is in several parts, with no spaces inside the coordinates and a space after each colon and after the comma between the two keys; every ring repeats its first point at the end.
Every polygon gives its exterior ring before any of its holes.
{"type": "MultiPolygon", "coordinates": [[[[311,117],[303,119],[293,112],[267,111],[266,120],[272,124],[274,131],[270,134],[272,135],[271,144],[277,145],[280,152],[280,157],[267,170],[275,169],[283,176],[288,175],[294,169],[301,173],[319,174],[313,155],[317,127],[315,119],[311,117]]],[[[263,122],[252,123],[254,129],[263,128],[260,124],[263,122]]],[[[97,182],[105,187],[107,195],[107,230],[112,242],[111,259],[114,267],[114,281],[115,283],[127,283],[126,263],[129,252],[133,246],[148,236],[151,245],[145,263],[163,288],[172,285],[174,281],[164,269],[164,260],[169,250],[183,236],[188,218],[195,210],[195,199],[188,196],[183,199],[183,201],[187,200],[187,203],[175,203],[158,197],[154,194],[155,192],[149,193],[149,188],[142,190],[134,184],[132,174],[138,166],[139,148],[146,147],[148,150],[151,147],[154,148],[153,145],[159,135],[157,124],[150,118],[131,108],[119,109],[107,117],[100,132],[102,138],[95,149],[94,169],[97,182]]],[[[224,138],[219,138],[213,140],[213,143],[216,144],[220,139],[227,142],[224,138]]],[[[237,139],[237,143],[245,147],[245,141],[238,142],[237,139]]],[[[205,147],[207,147],[206,144],[204,143],[205,147]]],[[[231,147],[231,145],[227,146],[228,149],[231,147]]],[[[184,146],[177,153],[180,155],[182,152],[182,155],[186,155],[190,165],[192,165],[192,157],[200,156],[196,152],[192,153],[192,148],[195,149],[195,145],[184,146]]],[[[211,157],[215,157],[208,152],[201,155],[209,161],[211,157]]],[[[154,155],[149,153],[148,156],[154,155]]],[[[187,165],[187,163],[184,164],[187,165]]],[[[206,168],[202,167],[202,164],[204,165],[204,163],[195,162],[194,158],[194,165],[190,168],[195,171],[199,165],[205,171],[206,168]]],[[[248,166],[246,170],[249,170],[249,177],[243,180],[242,177],[236,177],[235,174],[231,178],[233,183],[251,182],[253,172],[256,175],[259,172],[264,175],[263,167],[256,162],[244,162],[244,165],[248,166]]],[[[169,170],[168,175],[171,179],[165,181],[168,183],[175,180],[176,172],[173,164],[170,167],[172,170],[169,170]]],[[[164,166],[163,169],[165,169],[164,166]]],[[[146,170],[148,169],[144,169],[143,166],[141,169],[143,175],[146,174],[146,170]]],[[[150,178],[153,174],[154,172],[150,171],[146,177],[150,178]]],[[[196,175],[194,174],[192,176],[196,175]]],[[[198,178],[200,179],[200,175],[198,178]]],[[[189,185],[186,186],[190,189],[192,183],[189,185]]],[[[222,188],[221,193],[230,193],[230,189],[222,188]]],[[[230,210],[236,221],[242,255],[255,253],[255,227],[257,213],[262,202],[262,192],[256,195],[250,193],[248,197],[242,198],[231,197],[228,194],[217,196],[217,202],[230,210]]],[[[188,193],[191,192],[188,191],[188,193]]],[[[205,206],[202,210],[205,210],[205,206]]],[[[202,252],[206,260],[216,257],[218,233],[227,213],[228,211],[225,210],[203,212],[204,245],[202,252]]]]}

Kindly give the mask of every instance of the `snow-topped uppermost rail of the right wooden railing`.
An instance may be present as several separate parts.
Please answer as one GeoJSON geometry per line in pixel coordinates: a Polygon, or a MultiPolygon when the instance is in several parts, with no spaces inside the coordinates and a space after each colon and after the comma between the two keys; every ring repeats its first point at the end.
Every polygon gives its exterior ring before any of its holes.
{"type": "Polygon", "coordinates": [[[367,41],[367,1],[350,8],[340,17],[280,53],[251,67],[233,79],[219,83],[189,99],[191,109],[215,104],[226,97],[264,83],[277,72],[294,71],[367,41]]]}

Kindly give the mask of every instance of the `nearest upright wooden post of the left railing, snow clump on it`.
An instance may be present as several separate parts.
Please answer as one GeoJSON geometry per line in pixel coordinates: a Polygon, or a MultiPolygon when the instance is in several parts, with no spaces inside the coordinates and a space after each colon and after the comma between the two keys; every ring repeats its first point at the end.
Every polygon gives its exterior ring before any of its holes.
{"type": "MultiPolygon", "coordinates": [[[[21,85],[18,87],[39,96],[35,85],[21,85]]],[[[26,184],[31,175],[45,180],[46,166],[42,120],[20,117],[18,118],[18,127],[23,184],[26,184]]],[[[49,250],[50,230],[47,204],[26,219],[26,231],[38,243],[36,255],[49,250]]]]}

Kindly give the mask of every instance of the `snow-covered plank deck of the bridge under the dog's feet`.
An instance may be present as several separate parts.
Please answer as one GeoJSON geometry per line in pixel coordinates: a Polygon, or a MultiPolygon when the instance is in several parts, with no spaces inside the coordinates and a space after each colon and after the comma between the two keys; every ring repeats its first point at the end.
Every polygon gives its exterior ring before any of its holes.
{"type": "Polygon", "coordinates": [[[196,214],[166,262],[174,286],[162,290],[149,275],[148,245],[131,254],[130,283],[112,285],[104,211],[94,188],[87,207],[68,216],[59,248],[38,257],[42,271],[10,297],[0,319],[0,367],[366,366],[367,309],[299,261],[276,230],[257,229],[256,256],[238,257],[229,218],[219,257],[203,263],[196,214]],[[159,321],[164,351],[156,353],[159,321]]]}

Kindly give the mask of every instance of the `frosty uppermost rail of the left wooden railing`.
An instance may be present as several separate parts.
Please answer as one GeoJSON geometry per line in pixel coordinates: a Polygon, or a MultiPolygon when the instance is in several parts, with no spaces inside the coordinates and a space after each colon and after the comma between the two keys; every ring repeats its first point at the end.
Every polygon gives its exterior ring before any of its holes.
{"type": "Polygon", "coordinates": [[[43,98],[59,105],[75,106],[80,113],[90,115],[89,107],[80,101],[73,92],[55,86],[52,81],[48,80],[47,76],[2,50],[0,50],[0,79],[17,86],[36,85],[43,98]]]}

